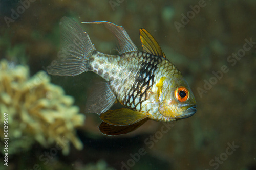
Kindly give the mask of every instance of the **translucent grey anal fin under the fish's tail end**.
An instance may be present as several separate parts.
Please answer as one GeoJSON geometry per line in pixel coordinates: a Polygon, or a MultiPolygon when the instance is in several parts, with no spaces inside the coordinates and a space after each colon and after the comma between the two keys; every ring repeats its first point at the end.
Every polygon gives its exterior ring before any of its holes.
{"type": "Polygon", "coordinates": [[[92,91],[86,103],[87,113],[104,113],[116,102],[116,97],[108,82],[94,84],[92,91]]]}

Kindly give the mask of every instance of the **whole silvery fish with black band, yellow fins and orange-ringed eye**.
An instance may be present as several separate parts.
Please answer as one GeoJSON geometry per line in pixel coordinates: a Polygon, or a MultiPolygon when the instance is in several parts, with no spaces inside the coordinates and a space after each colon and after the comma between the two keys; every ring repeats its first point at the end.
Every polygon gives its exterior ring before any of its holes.
{"type": "Polygon", "coordinates": [[[170,122],[196,113],[195,96],[188,83],[144,28],[139,30],[143,48],[139,51],[122,26],[107,21],[82,23],[104,25],[110,30],[118,40],[118,55],[97,51],[75,20],[62,17],[61,50],[47,72],[76,76],[92,71],[104,79],[94,86],[86,111],[99,114],[101,133],[126,134],[147,120],[170,122]],[[123,107],[110,110],[117,102],[123,107]]]}

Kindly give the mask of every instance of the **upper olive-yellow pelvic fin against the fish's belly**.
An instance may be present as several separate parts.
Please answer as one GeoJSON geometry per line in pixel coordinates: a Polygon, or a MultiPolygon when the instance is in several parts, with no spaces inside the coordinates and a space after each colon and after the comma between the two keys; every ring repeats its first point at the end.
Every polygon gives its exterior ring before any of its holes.
{"type": "Polygon", "coordinates": [[[133,111],[126,108],[109,110],[100,115],[100,119],[103,122],[119,126],[132,125],[147,117],[148,114],[143,114],[143,112],[133,111]]]}

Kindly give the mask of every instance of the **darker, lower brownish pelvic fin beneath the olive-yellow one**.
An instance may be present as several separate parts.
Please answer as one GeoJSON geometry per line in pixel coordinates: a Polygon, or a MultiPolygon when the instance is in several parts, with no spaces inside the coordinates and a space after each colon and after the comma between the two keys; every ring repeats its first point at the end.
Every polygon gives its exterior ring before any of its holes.
{"type": "Polygon", "coordinates": [[[140,122],[137,122],[133,125],[126,125],[126,126],[115,126],[115,125],[109,125],[105,122],[102,122],[99,125],[99,130],[101,133],[105,135],[121,135],[121,134],[126,134],[129,132],[132,132],[139,128],[141,125],[143,125],[148,118],[144,118],[140,120],[140,122]]]}

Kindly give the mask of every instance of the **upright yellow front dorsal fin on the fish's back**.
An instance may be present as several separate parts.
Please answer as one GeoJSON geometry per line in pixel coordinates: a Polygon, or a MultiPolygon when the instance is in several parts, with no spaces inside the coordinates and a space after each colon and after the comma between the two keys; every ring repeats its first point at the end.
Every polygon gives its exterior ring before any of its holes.
{"type": "Polygon", "coordinates": [[[166,58],[155,38],[143,28],[140,29],[140,41],[144,52],[166,58]]]}

